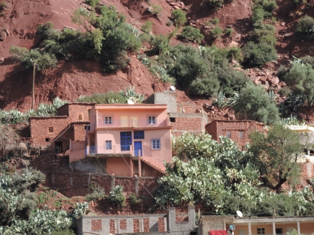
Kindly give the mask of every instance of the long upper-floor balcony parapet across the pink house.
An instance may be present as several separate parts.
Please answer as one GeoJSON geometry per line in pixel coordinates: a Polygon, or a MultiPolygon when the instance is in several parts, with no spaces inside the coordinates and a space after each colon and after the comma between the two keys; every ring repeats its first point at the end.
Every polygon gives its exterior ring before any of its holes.
{"type": "Polygon", "coordinates": [[[97,128],[164,128],[170,126],[169,119],[154,120],[149,123],[147,120],[112,120],[111,123],[105,123],[103,119],[98,119],[97,128]]]}

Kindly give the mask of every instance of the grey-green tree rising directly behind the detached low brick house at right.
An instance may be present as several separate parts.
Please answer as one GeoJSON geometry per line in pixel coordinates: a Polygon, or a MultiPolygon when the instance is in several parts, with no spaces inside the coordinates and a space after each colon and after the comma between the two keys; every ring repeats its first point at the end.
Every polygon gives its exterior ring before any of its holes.
{"type": "Polygon", "coordinates": [[[247,83],[233,105],[234,112],[245,119],[269,124],[279,120],[278,108],[269,100],[264,87],[247,83]]]}

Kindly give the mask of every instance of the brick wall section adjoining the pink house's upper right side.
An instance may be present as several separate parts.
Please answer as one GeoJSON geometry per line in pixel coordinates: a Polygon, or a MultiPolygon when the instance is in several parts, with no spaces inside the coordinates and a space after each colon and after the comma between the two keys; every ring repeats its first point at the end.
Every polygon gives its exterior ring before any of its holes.
{"type": "Polygon", "coordinates": [[[202,133],[205,130],[206,116],[202,114],[170,113],[171,132],[174,136],[180,136],[184,132],[202,133]]]}

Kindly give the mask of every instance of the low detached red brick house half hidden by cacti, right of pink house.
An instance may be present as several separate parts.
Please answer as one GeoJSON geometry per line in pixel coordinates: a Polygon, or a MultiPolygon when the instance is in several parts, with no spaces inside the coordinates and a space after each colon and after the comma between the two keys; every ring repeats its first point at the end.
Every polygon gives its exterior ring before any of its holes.
{"type": "Polygon", "coordinates": [[[216,141],[219,141],[220,136],[226,136],[244,148],[246,143],[250,142],[248,139],[250,132],[264,131],[264,124],[250,120],[214,120],[205,128],[216,141]]]}

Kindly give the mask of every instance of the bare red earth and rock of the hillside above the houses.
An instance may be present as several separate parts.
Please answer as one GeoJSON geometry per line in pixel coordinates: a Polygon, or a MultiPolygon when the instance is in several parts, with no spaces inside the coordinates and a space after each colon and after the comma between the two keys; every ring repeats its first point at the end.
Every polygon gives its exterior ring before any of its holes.
{"type": "MultiPolygon", "coordinates": [[[[36,35],[37,26],[45,22],[52,22],[54,28],[63,27],[78,29],[79,26],[71,22],[70,16],[76,8],[91,10],[83,0],[3,0],[1,7],[1,37],[0,37],[0,108],[17,107],[20,110],[31,107],[31,82],[33,73],[13,59],[9,53],[10,47],[20,46],[28,49],[39,46],[36,35]]],[[[174,26],[167,26],[172,10],[181,8],[187,15],[186,25],[197,27],[204,34],[203,45],[218,47],[243,46],[248,41],[248,33],[252,31],[251,24],[252,2],[250,0],[234,0],[225,3],[222,8],[215,10],[209,6],[201,6],[202,0],[101,0],[103,5],[112,5],[119,13],[126,15],[126,21],[140,29],[145,21],[153,22],[152,33],[155,35],[170,33],[174,26]],[[149,4],[148,4],[149,3],[149,4]],[[163,10],[155,17],[147,8],[158,5],[163,10]],[[222,29],[232,28],[232,37],[220,37],[213,40],[209,36],[207,22],[218,18],[218,26],[222,29]]],[[[278,43],[278,61],[268,63],[263,70],[246,71],[257,84],[264,86],[273,84],[278,89],[285,84],[276,78],[276,71],[281,64],[287,65],[292,55],[313,55],[310,42],[300,42],[294,36],[297,20],[302,15],[313,15],[312,3],[308,7],[294,6],[291,0],[278,1],[276,15],[276,37],[278,43]]],[[[172,38],[171,44],[180,43],[172,38]]],[[[144,44],[144,47],[149,45],[144,44]]],[[[141,53],[141,52],[140,52],[141,53]]],[[[36,73],[36,104],[51,101],[59,96],[66,100],[75,100],[80,95],[96,92],[119,91],[128,86],[135,86],[136,91],[146,95],[154,89],[167,89],[167,84],[158,82],[157,77],[137,60],[136,54],[130,55],[131,61],[124,70],[117,73],[103,73],[98,61],[85,60],[59,61],[57,68],[47,70],[46,73],[36,73]]]]}

